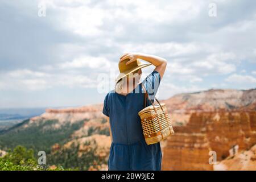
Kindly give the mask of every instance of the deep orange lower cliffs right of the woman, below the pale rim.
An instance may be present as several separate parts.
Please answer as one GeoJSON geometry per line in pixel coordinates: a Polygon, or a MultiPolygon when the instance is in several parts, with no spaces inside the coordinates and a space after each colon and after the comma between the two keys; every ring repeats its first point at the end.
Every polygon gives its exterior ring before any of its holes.
{"type": "Polygon", "coordinates": [[[175,127],[163,148],[164,170],[212,170],[209,151],[217,160],[229,156],[230,148],[248,150],[256,144],[255,111],[193,113],[187,126],[175,127]]]}

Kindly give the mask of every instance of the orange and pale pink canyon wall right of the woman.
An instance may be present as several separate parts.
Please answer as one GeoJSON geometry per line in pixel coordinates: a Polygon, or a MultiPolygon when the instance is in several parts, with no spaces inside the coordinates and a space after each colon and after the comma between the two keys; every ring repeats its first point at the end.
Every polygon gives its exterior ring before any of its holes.
{"type": "MultiPolygon", "coordinates": [[[[226,158],[247,152],[256,144],[255,100],[255,89],[218,89],[178,94],[165,101],[174,117],[175,135],[162,142],[162,169],[233,169],[232,162],[221,161],[230,161],[226,158]],[[185,115],[188,117],[184,119],[185,115]],[[217,165],[209,163],[212,151],[216,154],[217,165]]],[[[256,170],[256,166],[246,169],[256,170]]]]}

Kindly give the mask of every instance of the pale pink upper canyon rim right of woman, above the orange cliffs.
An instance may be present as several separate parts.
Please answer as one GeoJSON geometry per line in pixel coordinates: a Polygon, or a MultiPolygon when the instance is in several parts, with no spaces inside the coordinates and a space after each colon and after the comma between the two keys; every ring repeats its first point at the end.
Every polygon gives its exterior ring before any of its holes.
{"type": "Polygon", "coordinates": [[[203,92],[177,94],[166,101],[174,125],[184,125],[191,113],[201,111],[256,110],[256,89],[222,90],[211,89],[203,92]]]}

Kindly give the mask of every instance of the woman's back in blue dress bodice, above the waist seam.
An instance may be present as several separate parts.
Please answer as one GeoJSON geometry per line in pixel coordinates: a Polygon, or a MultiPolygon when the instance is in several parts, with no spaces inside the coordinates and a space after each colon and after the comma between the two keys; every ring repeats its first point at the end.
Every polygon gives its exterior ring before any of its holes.
{"type": "MultiPolygon", "coordinates": [[[[137,88],[141,89],[141,84],[137,88]]],[[[144,107],[144,93],[123,96],[112,91],[107,97],[113,142],[131,144],[142,140],[143,131],[138,112],[144,107]]]]}

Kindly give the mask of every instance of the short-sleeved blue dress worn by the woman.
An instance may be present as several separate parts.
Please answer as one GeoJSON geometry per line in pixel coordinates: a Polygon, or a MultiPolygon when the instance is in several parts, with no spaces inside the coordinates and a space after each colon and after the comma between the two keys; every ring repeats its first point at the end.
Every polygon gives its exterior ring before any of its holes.
{"type": "MultiPolygon", "coordinates": [[[[123,96],[109,92],[102,113],[109,117],[112,131],[109,170],[160,170],[162,151],[160,143],[147,145],[138,112],[144,108],[145,86],[152,100],[160,84],[160,75],[154,71],[133,92],[123,96]]],[[[151,102],[147,100],[147,104],[151,102]]]]}

